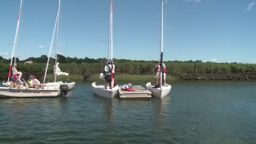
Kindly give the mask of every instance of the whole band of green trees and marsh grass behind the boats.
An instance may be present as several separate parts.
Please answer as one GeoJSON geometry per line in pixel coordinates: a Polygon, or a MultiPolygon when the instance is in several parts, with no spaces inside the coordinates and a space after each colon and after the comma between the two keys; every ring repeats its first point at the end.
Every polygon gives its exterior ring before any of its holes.
{"type": "MultiPolygon", "coordinates": [[[[98,75],[103,72],[104,63],[107,59],[77,59],[58,55],[60,69],[64,72],[69,72],[71,77],[83,78],[84,74],[98,75]]],[[[8,72],[9,61],[0,57],[0,72],[8,72]]],[[[42,55],[40,58],[29,58],[23,61],[18,61],[17,69],[21,72],[31,74],[43,74],[45,72],[47,57],[42,55]],[[24,64],[25,61],[32,60],[33,64],[24,64]]],[[[127,59],[114,59],[115,73],[130,74],[129,77],[134,77],[134,74],[151,74],[154,75],[156,61],[132,61],[127,59]]],[[[164,61],[168,74],[228,74],[238,72],[256,72],[256,64],[237,64],[237,63],[213,63],[202,61],[164,61]]],[[[53,73],[53,58],[50,59],[48,73],[53,73]]],[[[121,80],[127,75],[117,77],[121,80]]],[[[139,79],[147,79],[147,76],[140,76],[139,79]]],[[[135,78],[136,79],[136,78],[135,78]]]]}

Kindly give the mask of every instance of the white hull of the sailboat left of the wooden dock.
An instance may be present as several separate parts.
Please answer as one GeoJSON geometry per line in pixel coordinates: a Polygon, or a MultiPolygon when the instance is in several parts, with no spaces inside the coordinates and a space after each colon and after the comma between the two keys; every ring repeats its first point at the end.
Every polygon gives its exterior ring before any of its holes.
{"type": "Polygon", "coordinates": [[[119,92],[118,86],[115,86],[112,89],[109,89],[109,88],[105,89],[105,85],[96,85],[95,82],[92,83],[91,85],[93,86],[93,91],[96,95],[102,96],[105,98],[112,99],[119,92]]]}

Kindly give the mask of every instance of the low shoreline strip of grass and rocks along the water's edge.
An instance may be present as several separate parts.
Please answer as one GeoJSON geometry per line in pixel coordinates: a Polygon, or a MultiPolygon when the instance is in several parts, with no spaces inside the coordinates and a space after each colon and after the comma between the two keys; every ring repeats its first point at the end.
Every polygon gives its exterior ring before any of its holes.
{"type": "MultiPolygon", "coordinates": [[[[28,80],[29,75],[35,75],[40,81],[43,81],[43,73],[23,73],[24,80],[28,80]]],[[[2,80],[7,80],[8,73],[0,73],[2,80]]],[[[67,80],[68,77],[60,76],[59,80],[67,80]]],[[[48,74],[45,81],[53,81],[54,75],[48,74]]],[[[99,75],[96,74],[69,74],[69,80],[73,81],[97,81],[99,75]]],[[[116,74],[115,80],[117,81],[154,81],[155,75],[153,74],[116,74]]],[[[229,74],[167,74],[166,81],[176,80],[241,80],[241,81],[253,81],[256,80],[256,72],[245,73],[229,73],[229,74]]]]}

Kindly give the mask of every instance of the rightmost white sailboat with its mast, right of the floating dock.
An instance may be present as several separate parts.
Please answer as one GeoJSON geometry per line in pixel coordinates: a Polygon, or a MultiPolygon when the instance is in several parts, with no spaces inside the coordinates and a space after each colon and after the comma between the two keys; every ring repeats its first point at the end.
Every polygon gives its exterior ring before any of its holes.
{"type": "Polygon", "coordinates": [[[163,98],[167,96],[171,91],[171,85],[163,85],[163,0],[162,0],[162,19],[161,19],[161,40],[160,40],[160,80],[158,80],[157,87],[152,86],[151,83],[147,83],[147,90],[151,91],[152,95],[157,98],[163,98]]]}

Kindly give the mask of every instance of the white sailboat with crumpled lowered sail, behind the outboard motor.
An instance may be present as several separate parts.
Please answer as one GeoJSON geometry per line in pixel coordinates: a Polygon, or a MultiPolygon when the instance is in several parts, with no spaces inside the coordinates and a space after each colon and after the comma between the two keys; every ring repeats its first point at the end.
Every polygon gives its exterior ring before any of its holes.
{"type": "Polygon", "coordinates": [[[45,75],[44,75],[43,83],[44,83],[44,85],[46,87],[60,88],[60,86],[61,86],[63,88],[65,87],[65,89],[67,89],[67,91],[70,91],[70,90],[72,90],[74,88],[75,82],[67,83],[67,82],[57,81],[57,75],[58,76],[60,76],[60,75],[68,76],[69,75],[69,73],[67,73],[67,72],[61,72],[61,69],[58,67],[59,62],[57,62],[57,50],[58,50],[58,46],[59,46],[59,44],[58,44],[58,36],[59,36],[60,4],[61,4],[61,0],[59,0],[58,13],[57,13],[57,17],[56,17],[56,21],[55,21],[55,26],[54,26],[54,30],[53,30],[53,36],[52,36],[52,40],[51,40],[51,47],[50,47],[50,51],[49,51],[49,55],[48,55],[48,61],[47,61],[46,69],[45,69],[45,75]],[[55,30],[56,30],[56,25],[57,25],[56,45],[55,45],[56,53],[55,53],[55,65],[54,65],[54,72],[53,72],[54,73],[54,82],[52,82],[52,83],[45,83],[46,73],[47,73],[49,59],[50,59],[50,55],[51,55],[51,48],[53,46],[53,38],[54,38],[55,30]]]}

